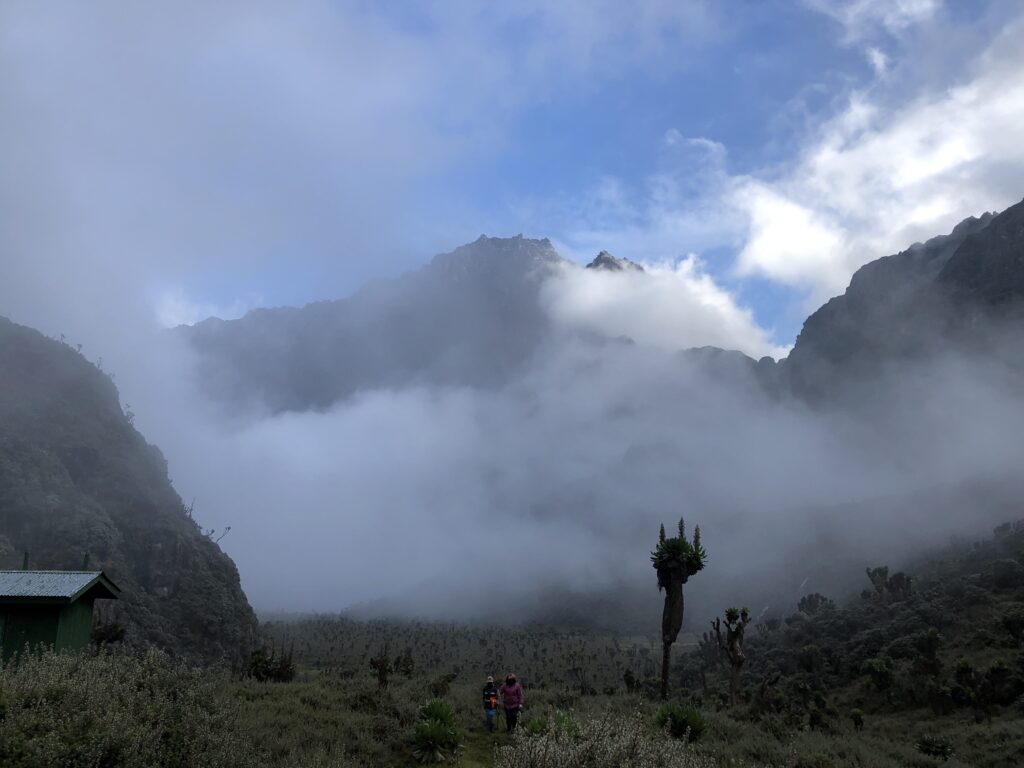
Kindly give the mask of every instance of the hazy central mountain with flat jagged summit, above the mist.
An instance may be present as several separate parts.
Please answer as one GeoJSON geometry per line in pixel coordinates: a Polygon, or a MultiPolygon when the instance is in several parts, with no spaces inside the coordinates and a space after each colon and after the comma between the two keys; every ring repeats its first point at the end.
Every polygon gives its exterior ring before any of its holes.
{"type": "Polygon", "coordinates": [[[538,288],[566,264],[547,240],[481,236],[348,299],[211,318],[183,334],[224,401],[326,409],[361,389],[496,386],[548,332],[538,288]]]}

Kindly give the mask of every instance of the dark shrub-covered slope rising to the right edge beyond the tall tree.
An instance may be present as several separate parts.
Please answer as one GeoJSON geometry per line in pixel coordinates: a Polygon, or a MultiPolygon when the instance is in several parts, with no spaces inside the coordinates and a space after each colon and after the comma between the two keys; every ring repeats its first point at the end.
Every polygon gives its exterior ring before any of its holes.
{"type": "MultiPolygon", "coordinates": [[[[906,571],[876,563],[859,598],[812,593],[787,616],[752,616],[745,651],[741,700],[756,720],[827,729],[854,710],[867,721],[904,711],[1020,718],[1024,520],[951,544],[906,571]]],[[[684,659],[681,679],[707,702],[726,706],[728,667],[709,634],[684,659]]]]}

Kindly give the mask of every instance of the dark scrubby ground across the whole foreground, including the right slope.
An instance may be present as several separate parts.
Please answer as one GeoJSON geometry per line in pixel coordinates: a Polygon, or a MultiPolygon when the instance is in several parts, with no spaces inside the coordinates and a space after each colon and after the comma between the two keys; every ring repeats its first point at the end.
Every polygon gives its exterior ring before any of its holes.
{"type": "Polygon", "coordinates": [[[865,568],[860,595],[752,620],[741,666],[725,626],[745,627],[743,611],[723,610],[718,633],[681,643],[668,701],[656,616],[636,637],[279,620],[233,669],[117,645],[27,652],[0,671],[0,764],[1011,768],[1022,558],[1017,522],[905,571],[865,568]],[[524,685],[521,727],[506,733],[500,711],[487,733],[483,681],[507,670],[524,685]]]}

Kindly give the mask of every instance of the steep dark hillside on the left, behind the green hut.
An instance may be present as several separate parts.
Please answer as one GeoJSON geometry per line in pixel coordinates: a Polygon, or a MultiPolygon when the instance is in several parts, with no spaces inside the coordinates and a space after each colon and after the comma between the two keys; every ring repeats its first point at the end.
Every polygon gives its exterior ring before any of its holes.
{"type": "Polygon", "coordinates": [[[234,563],[190,519],[111,379],[0,317],[0,567],[105,570],[127,640],[207,659],[246,652],[256,620],[234,563]]]}

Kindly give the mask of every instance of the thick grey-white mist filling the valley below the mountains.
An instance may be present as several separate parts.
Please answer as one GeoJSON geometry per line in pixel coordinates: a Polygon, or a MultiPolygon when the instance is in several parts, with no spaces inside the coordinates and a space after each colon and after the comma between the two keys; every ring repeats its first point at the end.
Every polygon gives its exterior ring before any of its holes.
{"type": "MultiPolygon", "coordinates": [[[[598,275],[609,290],[617,276],[598,275]]],[[[629,623],[657,599],[658,524],[685,517],[710,553],[687,587],[692,627],[728,604],[843,597],[867,586],[867,565],[1014,514],[1024,410],[997,367],[950,352],[809,406],[551,316],[495,388],[240,412],[205,399],[190,353],[164,335],[162,373],[129,389],[197,518],[216,536],[230,525],[221,546],[264,611],[629,623]]]]}

